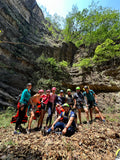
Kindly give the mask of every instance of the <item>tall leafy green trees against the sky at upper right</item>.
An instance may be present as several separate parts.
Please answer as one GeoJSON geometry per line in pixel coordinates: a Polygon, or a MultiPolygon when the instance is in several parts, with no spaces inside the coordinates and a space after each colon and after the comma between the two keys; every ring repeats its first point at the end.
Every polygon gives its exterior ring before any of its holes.
{"type": "Polygon", "coordinates": [[[72,41],[79,47],[98,45],[107,38],[120,37],[120,13],[116,10],[97,6],[94,2],[83,11],[72,10],[64,29],[65,41],[72,41]]]}

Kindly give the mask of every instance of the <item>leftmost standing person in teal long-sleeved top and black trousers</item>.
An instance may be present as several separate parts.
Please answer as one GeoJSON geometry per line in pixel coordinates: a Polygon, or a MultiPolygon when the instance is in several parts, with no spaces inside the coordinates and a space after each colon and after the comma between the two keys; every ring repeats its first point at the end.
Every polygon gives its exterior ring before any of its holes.
{"type": "Polygon", "coordinates": [[[22,94],[21,94],[21,97],[20,97],[20,100],[19,100],[19,108],[18,108],[17,117],[16,117],[17,119],[16,119],[14,134],[19,134],[20,133],[20,132],[17,132],[17,129],[23,123],[24,118],[25,117],[27,118],[26,113],[27,113],[27,108],[28,108],[28,105],[29,105],[29,100],[31,98],[31,88],[32,88],[32,84],[28,83],[27,86],[26,86],[26,89],[24,89],[22,94]]]}

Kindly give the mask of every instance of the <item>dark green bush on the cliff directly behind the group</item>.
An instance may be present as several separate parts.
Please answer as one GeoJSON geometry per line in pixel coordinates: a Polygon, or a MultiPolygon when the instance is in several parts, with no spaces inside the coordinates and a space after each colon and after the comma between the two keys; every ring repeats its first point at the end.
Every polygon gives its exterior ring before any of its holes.
{"type": "MultiPolygon", "coordinates": [[[[37,60],[37,65],[39,67],[39,71],[34,72],[36,79],[34,80],[37,84],[37,88],[48,89],[52,88],[52,86],[56,86],[60,88],[62,86],[62,82],[70,77],[68,71],[66,70],[66,66],[68,66],[68,62],[56,62],[54,58],[46,58],[44,54],[42,54],[37,60]]],[[[70,80],[70,78],[69,78],[70,80]]]]}

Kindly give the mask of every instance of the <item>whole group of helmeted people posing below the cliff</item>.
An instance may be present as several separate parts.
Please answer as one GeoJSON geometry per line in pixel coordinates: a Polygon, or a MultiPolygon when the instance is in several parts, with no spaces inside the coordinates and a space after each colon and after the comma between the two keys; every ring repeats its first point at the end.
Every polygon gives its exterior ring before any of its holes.
{"type": "Polygon", "coordinates": [[[77,124],[76,110],[78,110],[80,124],[82,123],[81,110],[84,109],[86,120],[89,124],[89,112],[92,122],[93,108],[99,113],[101,120],[105,122],[97,107],[97,96],[88,86],[84,86],[83,93],[80,91],[80,87],[76,87],[76,92],[73,95],[71,89],[67,89],[66,95],[63,90],[60,90],[59,95],[57,95],[56,87],[53,87],[52,90],[46,90],[46,93],[44,93],[43,89],[40,89],[38,93],[31,96],[31,88],[32,84],[28,83],[20,96],[17,114],[12,117],[11,123],[16,123],[14,134],[20,133],[17,130],[21,127],[22,123],[27,122],[28,116],[29,120],[26,132],[31,132],[31,124],[34,119],[38,119],[35,130],[40,131],[46,113],[48,115],[43,130],[44,134],[49,134],[52,130],[56,130],[56,128],[60,129],[63,135],[71,136],[74,134],[77,124]],[[52,124],[53,114],[55,115],[55,121],[52,124]]]}

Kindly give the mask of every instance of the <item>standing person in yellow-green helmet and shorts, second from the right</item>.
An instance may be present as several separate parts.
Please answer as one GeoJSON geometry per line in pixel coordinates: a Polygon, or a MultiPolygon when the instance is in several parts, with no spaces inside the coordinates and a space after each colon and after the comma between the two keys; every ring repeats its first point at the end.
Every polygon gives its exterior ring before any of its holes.
{"type": "Polygon", "coordinates": [[[84,111],[86,113],[87,123],[89,123],[88,109],[84,105],[84,96],[80,92],[80,87],[76,87],[76,93],[74,94],[73,99],[74,99],[74,107],[73,108],[78,109],[78,117],[79,117],[80,124],[82,123],[82,121],[81,121],[81,109],[82,108],[84,109],[84,111]]]}

